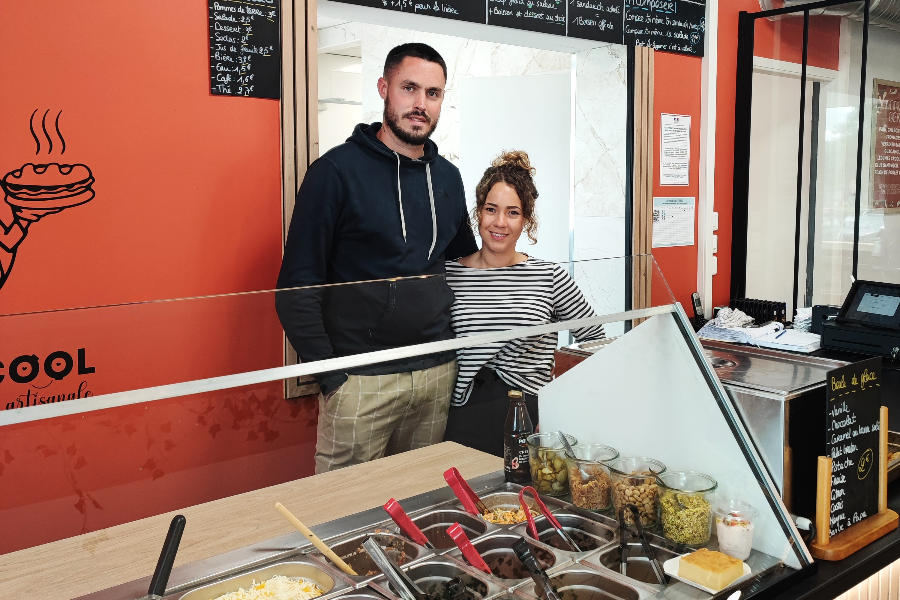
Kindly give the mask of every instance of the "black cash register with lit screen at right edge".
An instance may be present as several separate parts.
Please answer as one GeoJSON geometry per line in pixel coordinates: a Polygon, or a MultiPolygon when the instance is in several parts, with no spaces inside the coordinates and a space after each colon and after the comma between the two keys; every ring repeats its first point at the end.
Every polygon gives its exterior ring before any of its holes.
{"type": "Polygon", "coordinates": [[[834,320],[822,324],[822,346],[900,357],[900,284],[856,280],[834,320]]]}

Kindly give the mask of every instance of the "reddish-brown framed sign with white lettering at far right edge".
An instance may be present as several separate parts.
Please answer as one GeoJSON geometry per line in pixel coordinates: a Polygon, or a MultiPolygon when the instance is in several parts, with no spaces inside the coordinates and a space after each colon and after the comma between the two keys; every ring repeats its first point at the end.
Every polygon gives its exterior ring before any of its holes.
{"type": "Polygon", "coordinates": [[[872,208],[900,212],[900,83],[875,79],[872,96],[872,208]]]}

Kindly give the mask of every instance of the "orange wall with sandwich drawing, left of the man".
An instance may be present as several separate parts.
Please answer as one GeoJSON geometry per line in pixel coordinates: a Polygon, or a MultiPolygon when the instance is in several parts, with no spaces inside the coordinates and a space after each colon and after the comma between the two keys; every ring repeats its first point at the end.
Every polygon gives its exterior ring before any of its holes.
{"type": "MultiPolygon", "coordinates": [[[[83,163],[96,180],[90,202],[29,227],[0,315],[274,286],[279,102],[210,94],[208,31],[202,1],[0,3],[0,176],[83,163]],[[65,154],[52,127],[36,154],[35,110],[60,115],[65,154]]],[[[0,411],[279,366],[273,304],[0,316],[0,411]],[[89,372],[10,377],[18,356],[79,349],[89,372]]],[[[315,411],[275,382],[3,428],[0,553],[309,475],[315,411]]]]}

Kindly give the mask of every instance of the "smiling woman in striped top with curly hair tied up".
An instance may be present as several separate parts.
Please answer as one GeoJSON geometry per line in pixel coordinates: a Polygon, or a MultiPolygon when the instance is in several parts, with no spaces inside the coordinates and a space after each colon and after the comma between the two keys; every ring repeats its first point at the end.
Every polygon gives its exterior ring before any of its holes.
{"type": "MultiPolygon", "coordinates": [[[[458,336],[594,316],[562,267],[516,251],[523,231],[531,243],[537,241],[534,172],[528,154],[504,152],[475,188],[472,220],[481,235],[481,250],[447,262],[447,283],[456,296],[452,325],[458,336]]],[[[579,341],[604,337],[600,325],[572,333],[579,341]]],[[[537,425],[536,394],[550,382],[556,340],[552,333],[460,350],[444,440],[503,456],[508,392],[523,392],[531,422],[537,425]]]]}

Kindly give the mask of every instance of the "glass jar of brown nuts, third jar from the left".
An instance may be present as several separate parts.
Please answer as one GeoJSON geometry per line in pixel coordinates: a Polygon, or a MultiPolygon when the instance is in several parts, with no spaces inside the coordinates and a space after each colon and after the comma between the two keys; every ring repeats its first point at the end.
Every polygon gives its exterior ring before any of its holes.
{"type": "MultiPolygon", "coordinates": [[[[622,508],[632,505],[641,515],[641,525],[656,525],[659,519],[659,486],[656,476],[664,473],[666,465],[643,456],[628,456],[608,461],[612,480],[613,506],[616,519],[621,518],[622,508]]],[[[634,525],[632,511],[624,512],[625,523],[634,525]]]]}

